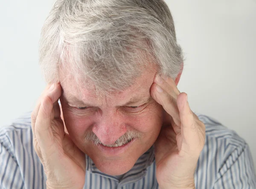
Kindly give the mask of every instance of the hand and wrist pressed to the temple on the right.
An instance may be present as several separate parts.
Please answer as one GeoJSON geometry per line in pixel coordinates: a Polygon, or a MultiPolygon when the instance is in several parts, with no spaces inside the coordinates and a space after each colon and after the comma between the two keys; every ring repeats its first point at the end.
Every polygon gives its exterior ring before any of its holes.
{"type": "Polygon", "coordinates": [[[157,182],[161,189],[194,189],[205,125],[190,110],[186,93],[180,93],[172,78],[157,76],[150,93],[165,110],[163,127],[154,144],[157,182]]]}

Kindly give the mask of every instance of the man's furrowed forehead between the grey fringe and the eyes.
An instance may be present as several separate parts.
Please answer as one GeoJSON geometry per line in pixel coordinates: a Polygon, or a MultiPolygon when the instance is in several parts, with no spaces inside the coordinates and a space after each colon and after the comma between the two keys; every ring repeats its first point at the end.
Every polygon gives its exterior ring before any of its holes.
{"type": "Polygon", "coordinates": [[[115,106],[125,104],[129,100],[141,99],[142,101],[150,97],[150,87],[153,83],[156,71],[146,70],[141,76],[137,77],[130,87],[122,92],[112,92],[108,96],[96,93],[94,85],[79,86],[72,78],[65,78],[61,81],[63,96],[72,102],[80,101],[94,106],[115,106]]]}

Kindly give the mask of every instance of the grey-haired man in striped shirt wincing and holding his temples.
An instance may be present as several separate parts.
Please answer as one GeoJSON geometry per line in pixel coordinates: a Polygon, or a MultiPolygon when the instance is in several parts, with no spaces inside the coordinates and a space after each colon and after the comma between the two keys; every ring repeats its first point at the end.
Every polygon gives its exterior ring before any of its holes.
{"type": "Polygon", "coordinates": [[[31,122],[0,133],[2,188],[256,188],[245,141],[177,89],[163,1],[57,0],[40,64],[49,85],[31,122]]]}

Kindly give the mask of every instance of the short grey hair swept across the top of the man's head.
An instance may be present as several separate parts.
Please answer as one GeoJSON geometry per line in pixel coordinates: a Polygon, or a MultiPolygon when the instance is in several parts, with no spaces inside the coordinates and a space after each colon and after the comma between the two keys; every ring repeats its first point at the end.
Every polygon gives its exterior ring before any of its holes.
{"type": "Polygon", "coordinates": [[[156,65],[176,78],[183,55],[163,0],[57,0],[41,31],[39,63],[47,83],[59,69],[99,90],[122,90],[156,65]]]}

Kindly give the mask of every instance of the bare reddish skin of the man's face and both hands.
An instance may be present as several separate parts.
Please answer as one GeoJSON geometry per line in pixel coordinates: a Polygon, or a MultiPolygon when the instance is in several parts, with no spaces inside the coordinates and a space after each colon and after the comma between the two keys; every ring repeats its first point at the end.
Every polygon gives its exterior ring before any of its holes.
{"type": "MultiPolygon", "coordinates": [[[[48,86],[32,113],[34,147],[47,175],[47,188],[83,188],[84,152],[102,172],[120,175],[131,169],[137,158],[153,144],[160,188],[195,188],[194,173],[204,147],[205,125],[190,110],[187,94],[177,89],[180,75],[174,81],[164,76],[161,79],[156,72],[148,71],[124,92],[113,93],[112,98],[96,96],[92,93],[93,88],[77,92],[68,85],[69,82],[67,85],[56,83],[50,89],[48,86]],[[76,94],[83,102],[94,103],[97,108],[80,115],[70,109],[65,90],[76,94]],[[135,114],[124,110],[122,104],[131,96],[141,94],[151,96],[152,101],[135,114]],[[61,119],[59,98],[68,134],[61,119]],[[82,141],[87,131],[93,131],[104,144],[112,144],[128,130],[137,130],[142,136],[127,152],[116,157],[105,155],[92,144],[82,141]]],[[[129,104],[137,105],[140,104],[129,104]]]]}

